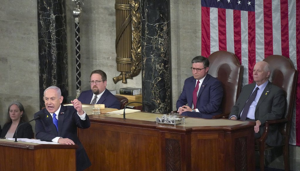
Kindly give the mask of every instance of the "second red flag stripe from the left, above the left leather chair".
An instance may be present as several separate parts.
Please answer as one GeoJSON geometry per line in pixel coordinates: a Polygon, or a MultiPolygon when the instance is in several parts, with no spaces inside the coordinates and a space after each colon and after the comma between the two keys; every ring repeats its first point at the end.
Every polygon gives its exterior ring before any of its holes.
{"type": "Polygon", "coordinates": [[[219,50],[227,50],[226,9],[218,8],[219,50]]]}

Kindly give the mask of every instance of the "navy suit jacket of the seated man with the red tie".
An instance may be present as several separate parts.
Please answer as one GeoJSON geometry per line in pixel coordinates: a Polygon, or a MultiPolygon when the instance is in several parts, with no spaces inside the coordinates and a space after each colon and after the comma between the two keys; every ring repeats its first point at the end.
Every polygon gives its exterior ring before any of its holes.
{"type": "MultiPolygon", "coordinates": [[[[196,79],[193,76],[187,78],[184,81],[184,86],[181,95],[176,103],[177,109],[183,105],[189,107],[193,104],[193,91],[196,85],[196,79]]],[[[197,97],[197,109],[199,113],[184,112],[183,116],[199,117],[199,118],[212,118],[214,115],[218,115],[222,112],[221,102],[223,98],[222,83],[207,74],[200,87],[197,97]]]]}

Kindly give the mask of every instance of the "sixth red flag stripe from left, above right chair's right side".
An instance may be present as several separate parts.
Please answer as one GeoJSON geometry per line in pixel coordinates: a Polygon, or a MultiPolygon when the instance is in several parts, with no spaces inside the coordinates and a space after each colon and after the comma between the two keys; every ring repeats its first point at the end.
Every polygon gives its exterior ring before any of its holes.
{"type": "Polygon", "coordinates": [[[281,52],[289,58],[289,7],[288,1],[280,1],[281,52]]]}

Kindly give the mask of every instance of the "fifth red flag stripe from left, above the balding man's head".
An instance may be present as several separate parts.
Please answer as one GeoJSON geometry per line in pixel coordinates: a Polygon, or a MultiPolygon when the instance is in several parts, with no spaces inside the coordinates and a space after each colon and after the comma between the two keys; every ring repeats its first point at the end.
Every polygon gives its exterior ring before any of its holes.
{"type": "Polygon", "coordinates": [[[263,1],[265,56],[273,55],[272,0],[263,1]]]}

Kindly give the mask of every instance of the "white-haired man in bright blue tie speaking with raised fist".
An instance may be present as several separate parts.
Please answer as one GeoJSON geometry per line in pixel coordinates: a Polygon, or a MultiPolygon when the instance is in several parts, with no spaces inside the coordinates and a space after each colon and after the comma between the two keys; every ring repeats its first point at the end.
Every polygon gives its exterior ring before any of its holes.
{"type": "Polygon", "coordinates": [[[61,144],[77,144],[76,168],[84,170],[91,166],[82,144],[77,137],[78,128],[89,128],[90,121],[82,104],[77,99],[71,101],[73,106],[61,105],[63,97],[58,87],[51,86],[44,91],[45,109],[35,113],[35,117],[44,114],[44,119],[35,120],[35,136],[42,141],[61,144]]]}

